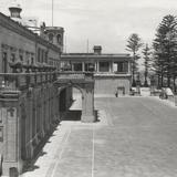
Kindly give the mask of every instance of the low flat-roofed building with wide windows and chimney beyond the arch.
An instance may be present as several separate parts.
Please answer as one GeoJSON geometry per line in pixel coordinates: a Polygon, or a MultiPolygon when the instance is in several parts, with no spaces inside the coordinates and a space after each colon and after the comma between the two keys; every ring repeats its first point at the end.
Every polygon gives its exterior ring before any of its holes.
{"type": "Polygon", "coordinates": [[[118,90],[129,94],[132,85],[132,58],[129,54],[102,53],[95,45],[93,53],[63,53],[61,67],[71,71],[92,71],[95,77],[95,94],[115,94],[118,90]]]}

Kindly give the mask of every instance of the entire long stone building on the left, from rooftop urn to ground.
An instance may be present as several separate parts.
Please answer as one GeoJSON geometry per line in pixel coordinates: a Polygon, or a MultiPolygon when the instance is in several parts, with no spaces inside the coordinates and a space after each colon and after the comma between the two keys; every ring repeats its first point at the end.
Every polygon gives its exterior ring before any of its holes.
{"type": "Polygon", "coordinates": [[[35,156],[42,139],[53,128],[53,121],[59,121],[62,113],[67,111],[72,98],[71,87],[64,87],[56,95],[58,90],[52,83],[52,71],[60,70],[64,30],[42,25],[39,28],[41,30],[39,35],[23,25],[20,15],[22,9],[19,4],[13,4],[9,9],[11,17],[0,13],[0,94],[7,88],[10,95],[13,86],[20,82],[23,86],[19,85],[21,92],[15,90],[17,95],[19,93],[21,95],[20,98],[15,98],[19,103],[12,101],[12,104],[7,105],[7,110],[3,108],[4,97],[1,97],[0,170],[3,168],[4,175],[9,173],[10,167],[20,168],[23,164],[19,163],[20,160],[25,162],[35,156]],[[51,31],[55,34],[52,41],[51,31]],[[12,65],[18,70],[14,71],[12,65]],[[17,79],[21,72],[23,79],[17,79]],[[31,84],[27,84],[29,82],[31,84]],[[8,110],[13,112],[14,104],[19,111],[14,111],[13,114],[8,110]],[[19,118],[18,122],[14,115],[19,118]],[[41,124],[42,119],[45,127],[41,124]],[[17,149],[20,149],[21,154],[17,149]]]}

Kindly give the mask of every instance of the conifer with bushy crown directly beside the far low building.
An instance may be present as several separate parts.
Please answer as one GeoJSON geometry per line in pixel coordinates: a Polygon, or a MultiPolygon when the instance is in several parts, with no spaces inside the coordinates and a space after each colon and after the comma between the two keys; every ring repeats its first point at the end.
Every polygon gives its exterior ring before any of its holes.
{"type": "Polygon", "coordinates": [[[135,81],[135,74],[138,71],[138,51],[140,49],[140,46],[143,45],[140,38],[138,37],[138,34],[133,33],[131,34],[131,37],[127,40],[127,45],[126,45],[126,50],[132,52],[133,54],[133,69],[132,69],[132,74],[133,74],[133,84],[132,86],[136,86],[136,81],[135,81]]]}

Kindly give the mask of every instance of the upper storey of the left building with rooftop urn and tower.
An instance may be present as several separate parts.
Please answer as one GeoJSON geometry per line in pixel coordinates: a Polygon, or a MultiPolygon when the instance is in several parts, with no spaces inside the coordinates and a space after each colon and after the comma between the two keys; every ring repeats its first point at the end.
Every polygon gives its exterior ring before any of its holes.
{"type": "Polygon", "coordinates": [[[60,54],[63,50],[63,28],[44,29],[39,35],[29,30],[27,21],[21,18],[20,4],[12,3],[9,8],[10,18],[0,13],[0,72],[12,72],[10,63],[33,65],[54,65],[60,70],[60,54]],[[51,41],[51,32],[55,32],[51,41]]]}

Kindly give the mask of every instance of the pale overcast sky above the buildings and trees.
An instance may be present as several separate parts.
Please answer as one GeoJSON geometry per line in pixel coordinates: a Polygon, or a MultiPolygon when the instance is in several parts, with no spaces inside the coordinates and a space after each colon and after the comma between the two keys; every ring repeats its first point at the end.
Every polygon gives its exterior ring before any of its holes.
{"type": "MultiPolygon", "coordinates": [[[[0,0],[0,11],[12,0],[0,0]]],[[[22,17],[38,17],[51,25],[52,0],[18,0],[22,17]]],[[[53,0],[54,25],[63,27],[67,52],[86,52],[100,44],[103,52],[124,53],[126,40],[138,33],[150,43],[156,29],[166,14],[177,14],[177,0],[53,0]]]]}

